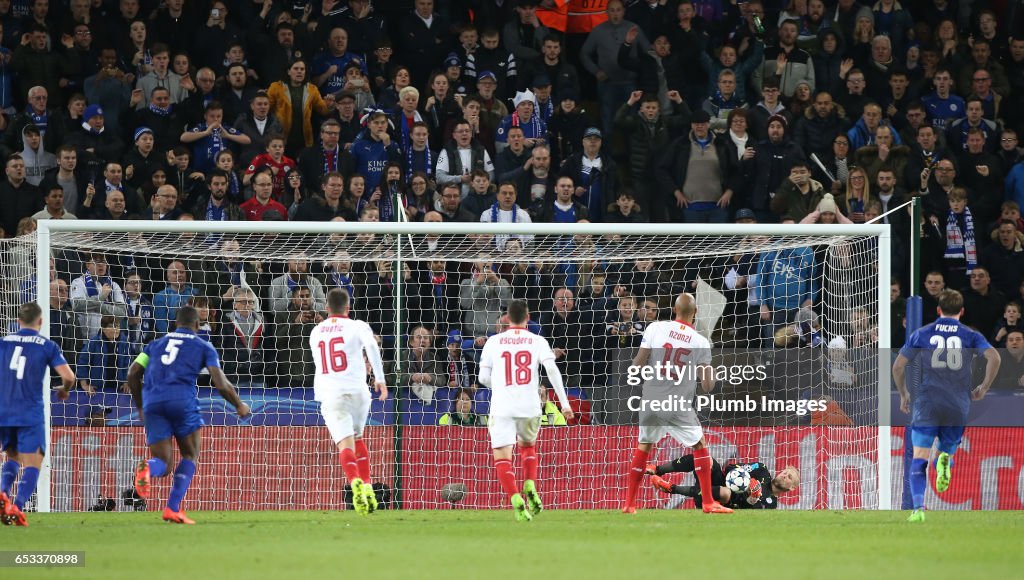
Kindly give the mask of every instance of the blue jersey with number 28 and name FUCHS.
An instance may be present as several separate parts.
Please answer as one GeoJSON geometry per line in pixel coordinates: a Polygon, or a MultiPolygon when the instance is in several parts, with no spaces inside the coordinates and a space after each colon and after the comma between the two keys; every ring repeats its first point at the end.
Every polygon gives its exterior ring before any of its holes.
{"type": "Polygon", "coordinates": [[[945,317],[910,335],[900,355],[916,360],[922,371],[921,386],[913,397],[913,424],[967,424],[975,386],[974,359],[991,347],[980,332],[945,317]]]}

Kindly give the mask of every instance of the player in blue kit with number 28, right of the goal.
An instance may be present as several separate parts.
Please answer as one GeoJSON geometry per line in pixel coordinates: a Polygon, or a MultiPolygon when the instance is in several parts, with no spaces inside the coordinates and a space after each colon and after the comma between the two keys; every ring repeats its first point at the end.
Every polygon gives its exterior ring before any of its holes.
{"type": "Polygon", "coordinates": [[[964,296],[955,290],[939,294],[939,318],[919,329],[900,350],[893,363],[893,379],[899,390],[900,410],[910,412],[910,393],[906,389],[906,366],[918,359],[922,369],[921,387],[913,398],[913,462],[910,464],[910,493],[913,512],[909,522],[925,521],[925,490],[928,488],[928,459],[932,444],[939,438],[939,456],[935,461],[935,491],[949,489],[952,456],[956,453],[971,401],[981,401],[999,371],[999,355],[985,337],[961,324],[964,296]],[[972,367],[977,355],[985,358],[985,378],[972,388],[972,367]]]}

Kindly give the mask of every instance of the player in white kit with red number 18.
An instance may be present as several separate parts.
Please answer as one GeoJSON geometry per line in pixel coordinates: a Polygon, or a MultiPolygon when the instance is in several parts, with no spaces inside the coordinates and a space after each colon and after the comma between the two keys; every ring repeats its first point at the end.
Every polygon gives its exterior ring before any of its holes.
{"type": "Polygon", "coordinates": [[[555,365],[555,354],[543,336],[526,330],[529,310],[523,300],[508,305],[509,327],[487,338],[480,354],[480,384],[490,387],[490,447],[502,490],[509,496],[515,519],[529,522],[544,509],[537,492],[537,433],[541,429],[540,367],[558,395],[562,415],[572,419],[572,409],[565,397],[562,374],[555,365]],[[512,446],[519,442],[519,460],[525,480],[524,500],[512,472],[512,446]]]}

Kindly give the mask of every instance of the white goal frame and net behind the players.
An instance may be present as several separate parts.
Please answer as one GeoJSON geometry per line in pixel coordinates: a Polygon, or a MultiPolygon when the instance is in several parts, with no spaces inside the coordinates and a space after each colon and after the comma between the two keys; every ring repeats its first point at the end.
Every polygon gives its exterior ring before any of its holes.
{"type": "MultiPolygon", "coordinates": [[[[79,388],[49,407],[38,506],[158,508],[169,479],[157,482],[152,505],[132,498],[133,466],[147,453],[124,383],[134,356],[173,329],[186,303],[200,308],[202,332],[253,410],[239,419],[201,377],[206,427],[187,507],[343,506],[307,346],[326,293],[340,287],[379,336],[396,387],[374,401],[366,431],[373,482],[391,506],[504,505],[485,428],[490,391],[477,384],[476,364],[508,301],[522,298],[577,415],[565,421],[554,404],[541,411],[545,501],[617,507],[642,400],[631,361],[645,326],[672,317],[674,297],[689,292],[722,372],[715,399],[698,409],[712,455],[723,465],[797,467],[801,485],[779,498],[784,507],[888,507],[885,230],[40,222],[38,245],[5,242],[0,313],[9,326],[20,301],[48,302],[50,336],[94,392],[79,388]],[[49,266],[37,270],[37,256],[49,266]],[[466,486],[460,503],[443,501],[446,484],[466,486]]],[[[653,457],[688,451],[665,440],[653,457]]],[[[640,505],[676,504],[641,492],[640,505]]]]}

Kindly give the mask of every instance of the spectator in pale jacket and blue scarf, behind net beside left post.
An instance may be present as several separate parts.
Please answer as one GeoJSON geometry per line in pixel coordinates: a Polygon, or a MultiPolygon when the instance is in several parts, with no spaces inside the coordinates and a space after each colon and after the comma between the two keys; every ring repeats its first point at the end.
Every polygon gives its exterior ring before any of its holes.
{"type": "Polygon", "coordinates": [[[100,253],[88,255],[85,272],[71,282],[70,298],[72,310],[78,315],[82,338],[91,338],[99,332],[100,317],[124,319],[128,314],[124,292],[111,279],[106,257],[100,253]]]}

